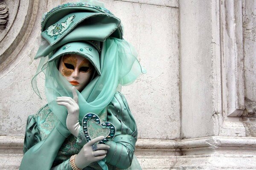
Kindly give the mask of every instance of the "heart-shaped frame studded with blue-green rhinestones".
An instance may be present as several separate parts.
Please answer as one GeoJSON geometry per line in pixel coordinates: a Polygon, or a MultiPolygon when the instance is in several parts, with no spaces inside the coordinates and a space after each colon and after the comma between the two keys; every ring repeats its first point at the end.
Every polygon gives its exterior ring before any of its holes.
{"type": "Polygon", "coordinates": [[[83,132],[84,136],[87,142],[91,140],[91,136],[87,127],[87,122],[89,120],[92,120],[94,123],[97,125],[101,126],[102,129],[109,129],[109,134],[106,136],[102,141],[98,142],[99,144],[105,144],[108,141],[112,140],[116,134],[116,127],[111,123],[111,122],[102,122],[99,119],[99,116],[96,115],[95,113],[87,113],[83,119],[82,119],[82,127],[83,127],[83,132]]]}

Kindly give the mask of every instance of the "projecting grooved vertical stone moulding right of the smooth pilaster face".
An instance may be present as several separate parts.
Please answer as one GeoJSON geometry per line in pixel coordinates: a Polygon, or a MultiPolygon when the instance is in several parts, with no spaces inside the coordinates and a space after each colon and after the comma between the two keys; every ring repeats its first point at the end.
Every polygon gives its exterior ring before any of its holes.
{"type": "Polygon", "coordinates": [[[241,1],[221,0],[223,111],[244,112],[244,56],[241,1]]]}

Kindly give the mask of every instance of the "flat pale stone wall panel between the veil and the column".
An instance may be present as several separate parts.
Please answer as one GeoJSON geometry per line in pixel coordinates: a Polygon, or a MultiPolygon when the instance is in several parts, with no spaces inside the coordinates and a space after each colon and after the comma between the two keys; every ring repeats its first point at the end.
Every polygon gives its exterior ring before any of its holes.
{"type": "Polygon", "coordinates": [[[125,39],[135,46],[141,65],[147,70],[147,74],[140,76],[134,84],[122,88],[137,120],[139,138],[178,138],[180,82],[177,8],[127,2],[108,3],[106,6],[121,18],[125,39]]]}

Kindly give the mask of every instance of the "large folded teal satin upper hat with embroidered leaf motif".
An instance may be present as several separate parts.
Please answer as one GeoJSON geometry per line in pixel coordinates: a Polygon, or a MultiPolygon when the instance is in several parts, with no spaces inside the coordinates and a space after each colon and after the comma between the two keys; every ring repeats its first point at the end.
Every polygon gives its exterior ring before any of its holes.
{"type": "Polygon", "coordinates": [[[66,3],[44,14],[41,22],[41,43],[35,59],[73,41],[104,42],[108,37],[123,39],[119,18],[104,6],[92,3],[66,3]]]}

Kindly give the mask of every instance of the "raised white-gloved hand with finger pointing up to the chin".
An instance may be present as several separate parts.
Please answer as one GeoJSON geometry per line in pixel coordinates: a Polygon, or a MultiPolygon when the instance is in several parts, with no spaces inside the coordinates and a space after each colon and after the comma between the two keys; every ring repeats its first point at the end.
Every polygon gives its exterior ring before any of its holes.
{"type": "Polygon", "coordinates": [[[80,125],[79,125],[79,105],[78,96],[76,93],[76,88],[72,88],[73,99],[71,97],[57,97],[56,102],[58,105],[65,106],[67,108],[67,129],[74,135],[78,137],[80,125]]]}

